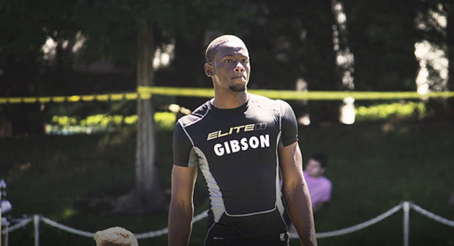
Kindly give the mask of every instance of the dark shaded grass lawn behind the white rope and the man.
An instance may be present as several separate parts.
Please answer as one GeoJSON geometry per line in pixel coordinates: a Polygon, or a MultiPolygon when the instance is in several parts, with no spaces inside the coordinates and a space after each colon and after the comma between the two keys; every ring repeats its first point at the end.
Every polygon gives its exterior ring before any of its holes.
{"type": "MultiPolygon", "coordinates": [[[[170,186],[172,133],[159,133],[160,182],[170,186]]],[[[135,233],[161,229],[167,213],[100,216],[88,196],[126,193],[134,186],[135,132],[0,139],[0,178],[8,183],[12,217],[41,214],[65,225],[94,232],[123,226],[135,233]]],[[[442,121],[362,123],[300,128],[304,157],[326,153],[331,202],[315,214],[317,232],[340,229],[375,217],[402,201],[454,220],[454,124],[442,121]]],[[[201,175],[196,214],[207,208],[201,175]]],[[[203,245],[205,221],[194,224],[190,245],[203,245]]],[[[364,230],[321,238],[319,245],[401,245],[402,212],[364,230]]],[[[33,224],[9,235],[10,245],[32,245],[33,224]]],[[[41,245],[94,245],[94,240],[40,223],[41,245]]],[[[139,240],[166,245],[167,235],[139,240]]],[[[296,240],[291,245],[298,245],[296,240]]],[[[454,245],[454,228],[410,213],[410,245],[454,245]]]]}

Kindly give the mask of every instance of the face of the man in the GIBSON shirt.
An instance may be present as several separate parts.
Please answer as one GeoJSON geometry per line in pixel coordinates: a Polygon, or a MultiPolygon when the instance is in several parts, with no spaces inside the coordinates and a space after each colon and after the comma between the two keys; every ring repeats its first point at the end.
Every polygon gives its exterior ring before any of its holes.
{"type": "Polygon", "coordinates": [[[208,70],[205,65],[205,72],[213,78],[215,88],[236,92],[245,91],[250,71],[248,49],[244,43],[239,41],[220,44],[213,62],[208,64],[208,70]]]}

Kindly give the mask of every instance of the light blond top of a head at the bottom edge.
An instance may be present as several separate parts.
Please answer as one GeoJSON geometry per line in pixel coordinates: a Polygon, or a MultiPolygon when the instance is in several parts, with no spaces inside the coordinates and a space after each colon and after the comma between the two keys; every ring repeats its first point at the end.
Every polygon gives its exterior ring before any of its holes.
{"type": "Polygon", "coordinates": [[[118,226],[96,231],[94,240],[96,246],[139,246],[131,231],[118,226]]]}

